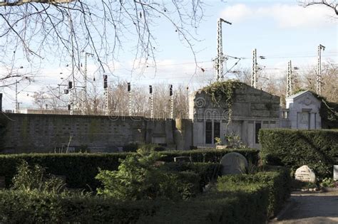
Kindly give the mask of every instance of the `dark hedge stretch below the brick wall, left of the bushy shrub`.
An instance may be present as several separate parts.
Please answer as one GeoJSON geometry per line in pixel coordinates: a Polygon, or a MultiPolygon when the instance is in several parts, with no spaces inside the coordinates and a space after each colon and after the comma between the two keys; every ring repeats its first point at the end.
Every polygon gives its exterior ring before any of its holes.
{"type": "Polygon", "coordinates": [[[46,173],[66,176],[70,188],[96,189],[99,181],[95,179],[98,167],[106,170],[116,170],[120,164],[118,159],[124,159],[130,153],[116,154],[9,154],[0,155],[0,176],[5,176],[6,185],[11,185],[11,179],[16,174],[16,167],[21,161],[27,161],[31,166],[38,164],[46,169],[46,173]]]}

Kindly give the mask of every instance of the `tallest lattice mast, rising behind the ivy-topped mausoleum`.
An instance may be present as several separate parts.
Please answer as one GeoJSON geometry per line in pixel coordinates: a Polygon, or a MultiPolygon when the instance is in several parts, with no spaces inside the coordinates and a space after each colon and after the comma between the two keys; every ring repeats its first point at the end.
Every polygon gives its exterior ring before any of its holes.
{"type": "Polygon", "coordinates": [[[227,58],[223,55],[223,46],[222,46],[222,22],[227,24],[232,24],[228,21],[225,21],[222,18],[219,18],[217,21],[217,58],[215,58],[215,82],[219,80],[223,80],[223,62],[227,60],[227,58]]]}

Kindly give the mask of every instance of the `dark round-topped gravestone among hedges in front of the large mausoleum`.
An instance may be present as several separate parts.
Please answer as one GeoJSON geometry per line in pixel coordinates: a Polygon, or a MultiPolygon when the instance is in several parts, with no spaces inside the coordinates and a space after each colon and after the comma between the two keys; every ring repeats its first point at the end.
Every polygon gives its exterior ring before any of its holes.
{"type": "Polygon", "coordinates": [[[222,175],[243,174],[247,168],[247,159],[242,154],[230,152],[222,157],[220,164],[223,166],[222,175]]]}

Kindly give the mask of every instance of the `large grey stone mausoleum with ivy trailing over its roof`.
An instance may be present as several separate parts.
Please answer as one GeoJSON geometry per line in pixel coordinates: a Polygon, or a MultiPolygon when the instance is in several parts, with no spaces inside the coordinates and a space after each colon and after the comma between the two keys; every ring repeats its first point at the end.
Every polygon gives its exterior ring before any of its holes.
{"type": "Polygon", "coordinates": [[[190,95],[189,118],[194,146],[214,146],[215,138],[226,142],[226,136],[236,135],[259,148],[259,130],[280,127],[280,97],[242,82],[215,82],[190,95]]]}

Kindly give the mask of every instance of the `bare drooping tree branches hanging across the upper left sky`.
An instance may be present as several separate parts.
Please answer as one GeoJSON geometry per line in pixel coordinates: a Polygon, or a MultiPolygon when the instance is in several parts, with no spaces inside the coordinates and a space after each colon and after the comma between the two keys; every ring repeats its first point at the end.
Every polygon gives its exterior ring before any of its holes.
{"type": "Polygon", "coordinates": [[[193,52],[190,28],[202,16],[200,0],[0,0],[0,61],[24,57],[36,63],[53,55],[76,69],[89,52],[104,71],[122,46],[134,43],[135,62],[146,67],[155,64],[153,28],[159,22],[170,23],[168,29],[193,52]]]}

